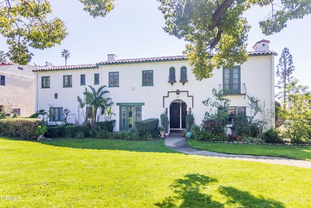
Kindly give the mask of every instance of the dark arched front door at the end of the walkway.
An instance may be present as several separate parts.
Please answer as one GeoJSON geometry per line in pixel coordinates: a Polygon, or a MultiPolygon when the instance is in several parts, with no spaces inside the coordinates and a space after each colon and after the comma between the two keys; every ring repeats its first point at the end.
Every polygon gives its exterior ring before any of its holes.
{"type": "Polygon", "coordinates": [[[174,100],[170,105],[170,128],[186,128],[187,104],[183,100],[174,100]]]}

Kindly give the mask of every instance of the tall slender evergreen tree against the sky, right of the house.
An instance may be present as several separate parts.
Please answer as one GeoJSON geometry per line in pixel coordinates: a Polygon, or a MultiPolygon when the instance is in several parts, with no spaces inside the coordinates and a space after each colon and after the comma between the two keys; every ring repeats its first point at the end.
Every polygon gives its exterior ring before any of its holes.
{"type": "Polygon", "coordinates": [[[280,89],[281,91],[276,95],[277,98],[283,100],[283,108],[285,109],[285,99],[287,93],[286,93],[286,86],[290,84],[290,82],[293,80],[293,72],[294,72],[294,65],[293,65],[293,57],[290,54],[288,48],[284,48],[282,51],[282,55],[280,59],[278,60],[278,64],[276,66],[276,76],[279,77],[279,80],[277,81],[277,89],[280,89]]]}

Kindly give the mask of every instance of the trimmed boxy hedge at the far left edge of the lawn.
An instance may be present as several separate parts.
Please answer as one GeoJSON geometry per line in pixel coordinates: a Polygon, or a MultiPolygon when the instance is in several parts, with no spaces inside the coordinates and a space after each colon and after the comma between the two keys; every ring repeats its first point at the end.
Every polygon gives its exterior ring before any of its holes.
{"type": "MultiPolygon", "coordinates": [[[[35,139],[38,126],[43,127],[43,122],[41,119],[7,118],[0,120],[0,131],[2,135],[11,137],[19,136],[21,139],[35,139]]],[[[44,131],[44,127],[42,131],[44,131]]]]}

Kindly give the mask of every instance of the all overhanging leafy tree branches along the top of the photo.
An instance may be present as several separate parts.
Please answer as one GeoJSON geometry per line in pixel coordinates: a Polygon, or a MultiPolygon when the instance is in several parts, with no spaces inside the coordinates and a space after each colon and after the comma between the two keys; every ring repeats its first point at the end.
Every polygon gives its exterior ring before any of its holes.
{"type": "MultiPolygon", "coordinates": [[[[114,9],[115,0],[79,0],[91,16],[104,17],[114,9]]],[[[212,70],[247,60],[247,33],[250,25],[242,17],[253,6],[271,6],[267,18],[259,22],[262,33],[271,35],[286,27],[291,19],[311,13],[311,0],[157,0],[166,20],[164,30],[188,44],[184,51],[197,79],[212,76],[212,70]],[[212,56],[213,55],[213,56],[212,56]]],[[[29,47],[44,49],[60,44],[67,36],[64,23],[51,13],[47,0],[4,0],[0,2],[0,34],[7,38],[8,57],[28,63],[29,47]]]]}

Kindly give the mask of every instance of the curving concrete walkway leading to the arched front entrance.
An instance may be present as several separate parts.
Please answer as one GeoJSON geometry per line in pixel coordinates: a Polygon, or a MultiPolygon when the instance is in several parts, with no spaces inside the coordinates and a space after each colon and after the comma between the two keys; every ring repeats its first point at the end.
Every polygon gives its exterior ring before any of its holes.
{"type": "Polygon", "coordinates": [[[289,165],[289,166],[296,166],[296,167],[311,169],[311,161],[294,160],[294,159],[286,159],[286,158],[278,158],[278,157],[268,157],[268,156],[225,154],[225,153],[197,150],[187,145],[186,137],[182,136],[180,132],[171,132],[164,142],[168,148],[174,151],[183,152],[185,154],[197,154],[197,155],[203,155],[203,156],[208,156],[208,157],[218,157],[218,158],[227,158],[227,159],[233,159],[233,160],[246,160],[246,161],[253,161],[253,162],[272,163],[272,164],[278,164],[278,165],[289,165]]]}

